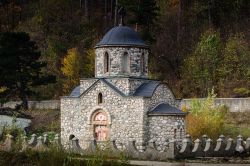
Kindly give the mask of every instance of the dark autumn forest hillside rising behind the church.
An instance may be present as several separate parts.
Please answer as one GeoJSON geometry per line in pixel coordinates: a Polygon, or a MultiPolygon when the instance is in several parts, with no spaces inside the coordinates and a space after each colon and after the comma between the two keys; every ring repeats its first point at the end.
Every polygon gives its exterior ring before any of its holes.
{"type": "Polygon", "coordinates": [[[150,46],[150,77],[176,97],[250,96],[249,0],[0,0],[0,33],[26,32],[56,77],[29,98],[58,99],[94,77],[93,47],[121,7],[150,46]]]}

